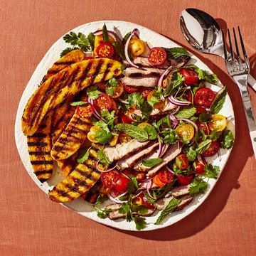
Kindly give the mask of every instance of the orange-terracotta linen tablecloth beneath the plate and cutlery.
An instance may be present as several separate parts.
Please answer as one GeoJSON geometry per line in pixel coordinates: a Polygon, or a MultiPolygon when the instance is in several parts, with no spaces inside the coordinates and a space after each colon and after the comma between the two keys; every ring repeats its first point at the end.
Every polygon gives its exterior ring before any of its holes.
{"type": "MultiPolygon", "coordinates": [[[[222,59],[195,53],[183,39],[179,15],[202,9],[221,26],[240,25],[256,77],[255,1],[0,1],[1,155],[0,255],[256,255],[256,161],[238,88],[222,59]],[[48,200],[28,176],[14,142],[21,94],[36,65],[67,31],[97,20],[124,20],[163,34],[198,55],[228,86],[236,139],[208,199],[168,228],[115,230],[48,200]]],[[[250,90],[256,112],[256,92],[250,90]]]]}

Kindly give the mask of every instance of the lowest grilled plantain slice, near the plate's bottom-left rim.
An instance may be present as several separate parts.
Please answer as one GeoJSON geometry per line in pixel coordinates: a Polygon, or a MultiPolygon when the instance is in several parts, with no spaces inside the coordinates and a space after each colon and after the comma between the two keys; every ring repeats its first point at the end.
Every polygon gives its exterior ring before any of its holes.
{"type": "Polygon", "coordinates": [[[58,203],[73,201],[89,191],[99,178],[100,171],[95,168],[95,161],[89,158],[85,164],[78,164],[67,178],[49,191],[49,198],[58,203]]]}

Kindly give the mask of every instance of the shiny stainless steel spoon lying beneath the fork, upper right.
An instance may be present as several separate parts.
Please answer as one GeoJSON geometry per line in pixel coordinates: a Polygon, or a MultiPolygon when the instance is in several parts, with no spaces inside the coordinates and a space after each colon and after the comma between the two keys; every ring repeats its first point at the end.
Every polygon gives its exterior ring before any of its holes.
{"type": "MultiPolygon", "coordinates": [[[[198,9],[186,9],[181,12],[181,31],[186,41],[202,53],[224,56],[223,36],[215,18],[198,9]]],[[[256,91],[256,80],[252,75],[247,82],[256,91]]]]}

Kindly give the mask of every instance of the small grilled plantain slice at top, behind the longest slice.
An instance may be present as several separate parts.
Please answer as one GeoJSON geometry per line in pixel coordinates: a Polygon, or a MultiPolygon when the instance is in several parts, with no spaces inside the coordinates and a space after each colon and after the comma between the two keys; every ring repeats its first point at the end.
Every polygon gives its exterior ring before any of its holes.
{"type": "Polygon", "coordinates": [[[65,54],[55,63],[53,66],[48,69],[47,74],[43,77],[42,82],[45,82],[50,78],[50,76],[55,75],[64,68],[67,68],[69,65],[78,63],[81,60],[85,59],[85,53],[82,50],[71,50],[69,53],[65,54]]]}

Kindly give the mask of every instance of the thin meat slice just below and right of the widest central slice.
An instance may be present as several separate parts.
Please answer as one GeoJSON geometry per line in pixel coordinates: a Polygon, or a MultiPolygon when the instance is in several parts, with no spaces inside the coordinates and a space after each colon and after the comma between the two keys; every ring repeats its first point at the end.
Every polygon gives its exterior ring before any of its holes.
{"type": "Polygon", "coordinates": [[[120,159],[117,162],[117,169],[124,170],[126,168],[134,166],[134,164],[136,164],[139,159],[141,159],[143,156],[150,154],[155,149],[158,149],[158,147],[159,143],[154,143],[153,145],[146,147],[146,149],[142,149],[142,151],[139,151],[137,154],[125,157],[124,159],[120,159]]]}

